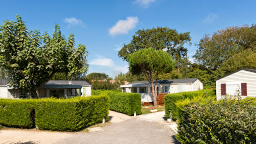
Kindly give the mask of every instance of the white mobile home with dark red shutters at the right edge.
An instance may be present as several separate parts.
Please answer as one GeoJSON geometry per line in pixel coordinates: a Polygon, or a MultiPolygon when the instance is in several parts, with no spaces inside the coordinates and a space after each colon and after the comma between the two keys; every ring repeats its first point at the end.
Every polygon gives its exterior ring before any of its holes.
{"type": "Polygon", "coordinates": [[[256,70],[241,68],[216,79],[216,99],[225,95],[256,96],[256,70]]]}

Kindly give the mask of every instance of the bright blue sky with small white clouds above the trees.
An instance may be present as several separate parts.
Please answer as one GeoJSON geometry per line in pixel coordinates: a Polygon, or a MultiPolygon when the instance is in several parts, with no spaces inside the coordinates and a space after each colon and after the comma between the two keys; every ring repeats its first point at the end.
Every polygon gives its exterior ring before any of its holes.
{"type": "MultiPolygon", "coordinates": [[[[0,22],[16,14],[28,29],[53,32],[54,23],[62,34],[74,33],[76,44],[86,45],[89,71],[113,77],[127,72],[128,63],[118,58],[122,43],[142,28],[167,26],[190,32],[194,54],[204,34],[234,26],[256,23],[255,0],[3,0],[0,22]]],[[[2,24],[2,23],[1,23],[2,24]]]]}

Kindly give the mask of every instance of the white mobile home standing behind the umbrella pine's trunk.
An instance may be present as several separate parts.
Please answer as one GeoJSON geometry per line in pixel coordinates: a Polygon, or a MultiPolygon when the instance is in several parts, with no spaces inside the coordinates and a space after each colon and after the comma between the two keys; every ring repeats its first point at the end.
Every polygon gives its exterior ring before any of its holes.
{"type": "MultiPolygon", "coordinates": [[[[154,82],[155,84],[155,82],[154,82]]],[[[141,101],[152,102],[152,88],[147,80],[132,81],[125,85],[120,85],[122,92],[135,92],[141,95],[141,101]]],[[[157,94],[161,93],[176,93],[183,91],[196,91],[202,89],[202,82],[198,78],[183,78],[183,79],[165,79],[157,80],[157,94]]],[[[165,94],[162,94],[165,95],[165,94]]],[[[157,96],[157,100],[163,100],[157,96]]]]}

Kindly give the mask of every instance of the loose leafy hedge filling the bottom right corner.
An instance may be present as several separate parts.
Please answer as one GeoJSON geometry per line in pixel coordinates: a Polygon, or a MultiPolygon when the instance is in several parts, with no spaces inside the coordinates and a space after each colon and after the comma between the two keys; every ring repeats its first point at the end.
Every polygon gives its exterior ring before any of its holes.
{"type": "Polygon", "coordinates": [[[255,143],[256,103],[251,99],[191,102],[178,122],[181,143],[255,143]]]}

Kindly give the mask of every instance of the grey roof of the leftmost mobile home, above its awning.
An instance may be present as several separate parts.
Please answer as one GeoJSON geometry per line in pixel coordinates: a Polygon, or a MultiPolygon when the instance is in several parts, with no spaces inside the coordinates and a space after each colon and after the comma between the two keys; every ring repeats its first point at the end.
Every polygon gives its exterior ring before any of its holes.
{"type": "MultiPolygon", "coordinates": [[[[84,86],[90,86],[91,84],[88,83],[85,80],[49,80],[45,85],[47,84],[69,84],[68,82],[71,81],[71,84],[75,85],[84,85],[84,86]]],[[[8,79],[0,79],[0,85],[7,85],[8,79]]]]}

